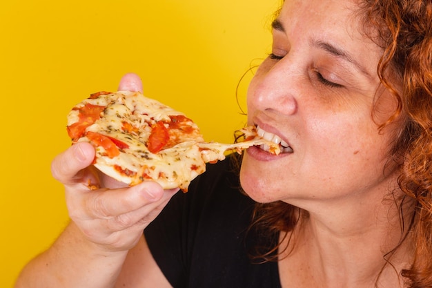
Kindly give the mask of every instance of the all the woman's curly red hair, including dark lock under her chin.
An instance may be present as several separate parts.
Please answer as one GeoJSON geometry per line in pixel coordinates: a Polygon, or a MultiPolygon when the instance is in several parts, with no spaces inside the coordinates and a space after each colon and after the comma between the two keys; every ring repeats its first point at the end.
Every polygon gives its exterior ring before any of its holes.
{"type": "MultiPolygon", "coordinates": [[[[412,265],[402,276],[410,288],[432,287],[432,1],[362,0],[359,5],[355,16],[360,17],[363,32],[384,51],[377,75],[397,100],[382,127],[396,119],[402,123],[391,160],[400,166],[402,201],[414,202],[410,211],[402,211],[406,205],[397,203],[400,215],[412,217],[401,218],[402,227],[409,223],[401,241],[409,237],[415,247],[412,265]]],[[[292,231],[299,220],[297,212],[284,202],[257,204],[251,229],[271,237],[292,231]]],[[[259,250],[259,258],[277,259],[278,248],[259,250]]]]}

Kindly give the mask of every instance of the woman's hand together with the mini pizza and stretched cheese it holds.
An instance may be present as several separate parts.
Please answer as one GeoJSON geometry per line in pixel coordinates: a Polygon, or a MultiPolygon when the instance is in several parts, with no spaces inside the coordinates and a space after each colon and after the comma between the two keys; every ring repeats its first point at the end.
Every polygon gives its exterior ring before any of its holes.
{"type": "Polygon", "coordinates": [[[114,250],[130,249],[178,188],[186,193],[206,163],[223,160],[226,150],[281,149],[254,126],[242,129],[241,143],[204,142],[191,119],[145,97],[133,74],[117,93],[94,93],[74,106],[67,130],[73,145],[56,158],[52,173],[66,186],[70,216],[86,239],[114,250]]]}

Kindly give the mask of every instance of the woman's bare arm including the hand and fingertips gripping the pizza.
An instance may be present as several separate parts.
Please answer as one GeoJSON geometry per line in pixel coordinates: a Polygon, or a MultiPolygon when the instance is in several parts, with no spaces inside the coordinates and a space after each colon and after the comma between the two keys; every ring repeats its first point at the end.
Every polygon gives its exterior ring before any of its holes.
{"type": "MultiPolygon", "coordinates": [[[[139,90],[140,85],[135,75],[126,75],[119,88],[139,90]]],[[[112,288],[117,282],[167,287],[143,231],[176,191],[164,191],[155,182],[125,187],[97,173],[90,166],[94,157],[91,144],[79,143],[52,162],[72,221],[52,247],[28,263],[15,288],[112,288]],[[91,190],[89,183],[102,188],[91,190]]]]}

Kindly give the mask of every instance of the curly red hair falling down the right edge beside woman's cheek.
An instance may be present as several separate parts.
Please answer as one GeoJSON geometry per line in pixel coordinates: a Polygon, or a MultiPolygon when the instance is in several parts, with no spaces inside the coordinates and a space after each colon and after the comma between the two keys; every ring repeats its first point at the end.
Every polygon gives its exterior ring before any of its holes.
{"type": "Polygon", "coordinates": [[[432,287],[432,1],[366,0],[364,23],[378,32],[384,48],[377,72],[406,117],[393,155],[402,159],[400,189],[415,200],[410,232],[415,254],[402,271],[409,287],[432,287]],[[402,81],[402,93],[385,76],[402,81]]]}

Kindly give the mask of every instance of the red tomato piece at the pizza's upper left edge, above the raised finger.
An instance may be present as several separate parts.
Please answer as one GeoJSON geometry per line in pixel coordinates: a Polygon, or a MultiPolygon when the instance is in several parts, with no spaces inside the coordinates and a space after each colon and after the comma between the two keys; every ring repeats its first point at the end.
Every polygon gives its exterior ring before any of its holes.
{"type": "Polygon", "coordinates": [[[68,135],[76,141],[84,135],[86,128],[95,123],[101,117],[101,113],[105,110],[105,106],[98,106],[87,103],[85,106],[74,108],[79,112],[79,120],[67,127],[68,135]]]}

